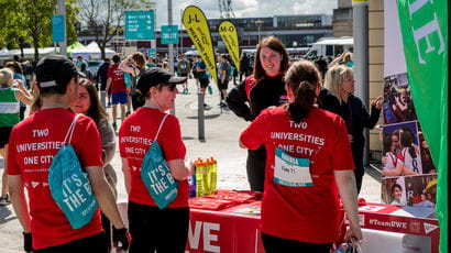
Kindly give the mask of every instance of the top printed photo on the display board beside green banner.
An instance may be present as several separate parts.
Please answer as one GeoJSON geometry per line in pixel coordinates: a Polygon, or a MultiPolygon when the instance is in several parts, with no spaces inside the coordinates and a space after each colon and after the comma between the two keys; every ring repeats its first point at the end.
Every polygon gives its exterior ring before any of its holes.
{"type": "Polygon", "coordinates": [[[384,78],[384,123],[417,120],[407,73],[384,78]]]}

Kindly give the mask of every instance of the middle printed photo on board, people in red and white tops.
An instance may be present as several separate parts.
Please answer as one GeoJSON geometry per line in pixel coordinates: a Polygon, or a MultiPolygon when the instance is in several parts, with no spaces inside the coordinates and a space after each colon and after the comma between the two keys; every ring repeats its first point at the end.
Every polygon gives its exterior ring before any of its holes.
{"type": "Polygon", "coordinates": [[[417,121],[383,127],[382,176],[424,174],[417,121]]]}

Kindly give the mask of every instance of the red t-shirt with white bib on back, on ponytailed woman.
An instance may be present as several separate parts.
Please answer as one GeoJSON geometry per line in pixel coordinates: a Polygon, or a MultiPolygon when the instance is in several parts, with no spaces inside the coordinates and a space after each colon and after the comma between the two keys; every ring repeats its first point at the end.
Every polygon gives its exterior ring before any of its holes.
{"type": "Polygon", "coordinates": [[[344,121],[314,108],[296,124],[283,107],[268,108],[240,136],[251,150],[266,146],[265,190],[262,202],[264,233],[310,243],[338,239],[340,202],[333,170],[354,169],[344,121]],[[314,186],[287,187],[274,182],[275,147],[310,161],[314,186]]]}

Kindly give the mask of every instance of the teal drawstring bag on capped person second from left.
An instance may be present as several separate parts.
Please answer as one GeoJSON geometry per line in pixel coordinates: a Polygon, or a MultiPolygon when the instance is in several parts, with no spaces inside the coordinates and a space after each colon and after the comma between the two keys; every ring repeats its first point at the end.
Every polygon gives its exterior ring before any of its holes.
{"type": "Polygon", "coordinates": [[[156,139],[168,114],[163,117],[155,139],[148,147],[141,165],[141,178],[145,188],[160,209],[164,209],[177,197],[178,182],[170,174],[169,166],[163,157],[162,148],[156,139]]]}

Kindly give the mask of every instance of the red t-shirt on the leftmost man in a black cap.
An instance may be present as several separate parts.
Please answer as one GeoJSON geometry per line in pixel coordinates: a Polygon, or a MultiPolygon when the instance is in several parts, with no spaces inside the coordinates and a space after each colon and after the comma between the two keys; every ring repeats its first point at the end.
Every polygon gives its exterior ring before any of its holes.
{"type": "MultiPolygon", "coordinates": [[[[11,132],[8,174],[21,175],[28,189],[34,249],[61,245],[102,231],[99,209],[88,224],[74,230],[50,191],[48,168],[74,117],[74,112],[63,108],[44,109],[11,132]]],[[[70,144],[82,167],[102,165],[100,136],[90,118],[79,117],[70,144]]]]}

